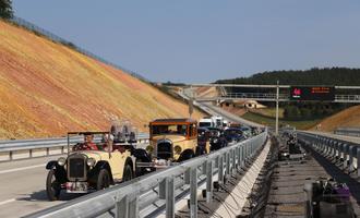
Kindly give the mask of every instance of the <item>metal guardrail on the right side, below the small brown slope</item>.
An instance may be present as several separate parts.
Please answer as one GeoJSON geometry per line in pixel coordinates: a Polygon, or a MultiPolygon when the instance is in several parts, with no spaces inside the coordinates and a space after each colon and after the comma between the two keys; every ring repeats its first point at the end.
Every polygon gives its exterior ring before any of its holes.
{"type": "Polygon", "coordinates": [[[348,173],[360,178],[360,144],[323,135],[298,132],[300,142],[312,146],[319,154],[332,160],[348,173]]]}

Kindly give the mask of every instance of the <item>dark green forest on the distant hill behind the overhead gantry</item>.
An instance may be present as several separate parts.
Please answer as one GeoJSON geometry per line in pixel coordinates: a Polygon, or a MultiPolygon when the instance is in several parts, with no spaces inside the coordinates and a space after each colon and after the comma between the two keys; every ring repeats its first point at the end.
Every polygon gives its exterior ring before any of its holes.
{"type": "MultiPolygon", "coordinates": [[[[284,85],[328,85],[328,86],[359,86],[360,85],[360,69],[349,68],[313,68],[305,71],[271,71],[256,73],[249,77],[237,77],[230,80],[220,80],[218,84],[259,84],[274,85],[279,81],[284,85]]],[[[275,93],[275,89],[259,89],[259,88],[241,88],[229,87],[228,92],[236,93],[253,93],[268,92],[275,93]]],[[[280,89],[280,93],[285,90],[280,89]]],[[[355,90],[336,90],[336,94],[356,94],[360,95],[358,89],[355,90]]],[[[273,102],[262,102],[268,107],[274,107],[273,102]]],[[[312,120],[321,119],[338,112],[352,104],[332,104],[332,102],[281,102],[284,108],[284,118],[286,120],[312,120]]]]}

